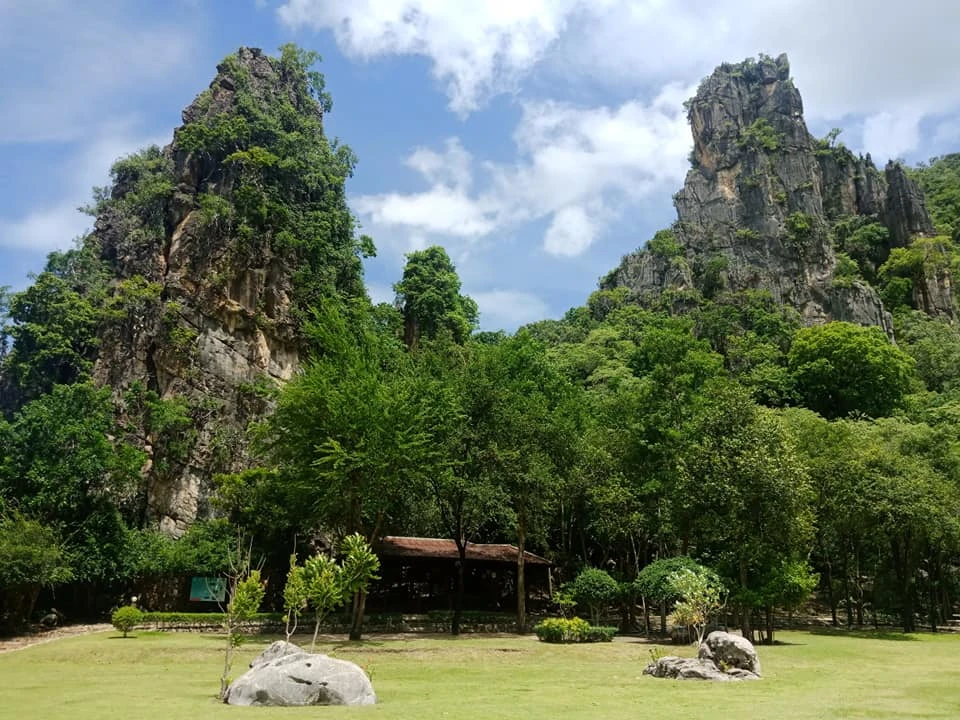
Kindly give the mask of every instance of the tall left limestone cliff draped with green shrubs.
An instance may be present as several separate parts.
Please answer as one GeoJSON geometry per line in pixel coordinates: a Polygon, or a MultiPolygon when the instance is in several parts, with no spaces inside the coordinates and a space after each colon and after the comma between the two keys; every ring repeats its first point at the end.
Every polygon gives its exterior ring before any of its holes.
{"type": "Polygon", "coordinates": [[[119,310],[101,333],[94,377],[114,389],[148,451],[146,520],[165,532],[179,535],[209,512],[214,473],[249,464],[249,422],[269,412],[268,390],[300,366],[298,278],[329,271],[331,291],[363,292],[352,224],[330,251],[336,262],[323,256],[315,267],[278,224],[287,214],[322,219],[323,192],[323,202],[339,193],[336,207],[346,212],[342,182],[311,198],[307,181],[280,176],[282,148],[269,144],[284,141],[286,126],[301,131],[302,121],[318,133],[305,157],[319,165],[330,150],[321,113],[302,68],[242,48],[183,111],[173,142],[148,158],[148,180],[144,163],[114,170],[95,236],[119,310]],[[276,130],[274,115],[282,118],[276,130]]]}

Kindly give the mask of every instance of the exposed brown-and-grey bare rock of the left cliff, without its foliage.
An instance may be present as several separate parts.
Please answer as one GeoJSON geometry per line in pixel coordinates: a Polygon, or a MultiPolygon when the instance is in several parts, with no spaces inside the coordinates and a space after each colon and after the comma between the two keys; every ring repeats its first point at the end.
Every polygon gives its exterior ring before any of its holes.
{"type": "MultiPolygon", "coordinates": [[[[250,49],[236,57],[255,95],[285,92],[275,61],[250,49]]],[[[232,107],[235,81],[225,66],[218,70],[208,93],[184,110],[185,123],[232,107]]],[[[201,193],[229,197],[232,171],[186,152],[176,138],[163,153],[176,184],[163,237],[144,241],[109,208],[96,223],[103,257],[117,277],[142,276],[160,292],[158,303],[104,331],[94,378],[118,398],[139,384],[160,398],[189,402],[194,439],[186,456],[151,459],[144,468],[148,519],[180,535],[208,512],[211,476],[248,466],[244,431],[269,411],[255,389],[288,380],[300,351],[289,258],[274,254],[265,240],[238,256],[236,242],[197,202],[201,193]]],[[[115,195],[123,191],[114,188],[115,195]]],[[[146,429],[139,440],[148,454],[156,449],[157,438],[146,429]]]]}

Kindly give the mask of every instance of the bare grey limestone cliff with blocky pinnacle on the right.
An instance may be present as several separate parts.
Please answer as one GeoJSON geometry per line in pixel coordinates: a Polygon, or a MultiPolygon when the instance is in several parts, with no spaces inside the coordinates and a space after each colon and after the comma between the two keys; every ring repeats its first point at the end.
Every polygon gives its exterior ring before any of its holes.
{"type": "Polygon", "coordinates": [[[812,137],[785,55],[720,66],[689,101],[688,117],[694,148],[674,196],[676,242],[626,256],[602,286],[641,298],[765,289],[807,324],[847,320],[892,335],[873,288],[838,275],[831,226],[869,216],[889,229],[893,246],[932,232],[903,168],[890,164],[881,174],[869,156],[812,137]]]}

